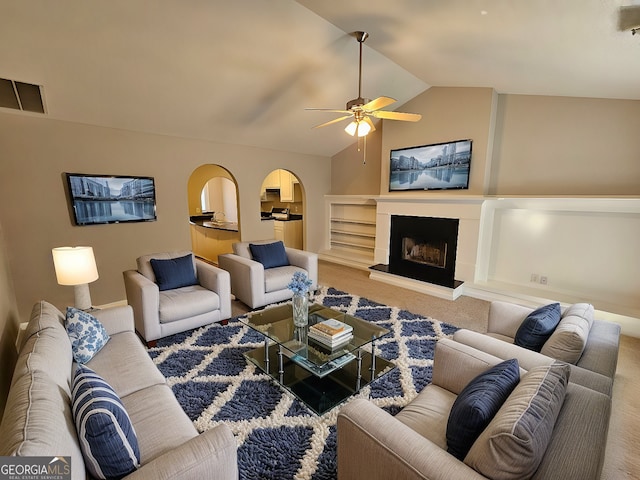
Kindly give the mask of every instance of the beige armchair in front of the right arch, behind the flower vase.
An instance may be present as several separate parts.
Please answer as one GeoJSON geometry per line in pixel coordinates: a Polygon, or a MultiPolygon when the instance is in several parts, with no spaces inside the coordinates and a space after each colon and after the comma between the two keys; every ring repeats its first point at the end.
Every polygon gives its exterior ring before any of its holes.
{"type": "Polygon", "coordinates": [[[231,293],[250,308],[258,308],[270,303],[282,302],[293,296],[287,288],[291,277],[297,271],[307,274],[311,280],[311,290],[318,287],[318,255],[295,248],[284,247],[288,265],[265,268],[251,253],[250,244],[270,245],[276,240],[237,242],[232,245],[233,253],[218,256],[220,268],[231,275],[231,293]]]}

